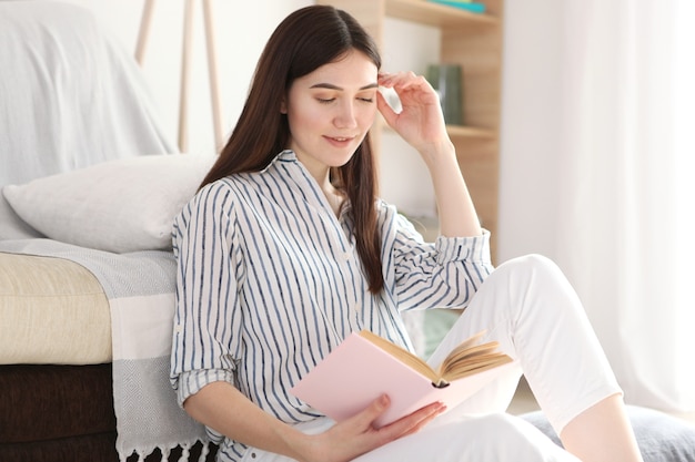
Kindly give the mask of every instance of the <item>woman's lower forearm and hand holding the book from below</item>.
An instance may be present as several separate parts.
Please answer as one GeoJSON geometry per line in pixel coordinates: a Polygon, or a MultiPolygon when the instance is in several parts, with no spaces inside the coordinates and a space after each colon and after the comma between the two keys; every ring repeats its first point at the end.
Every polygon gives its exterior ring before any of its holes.
{"type": "Polygon", "coordinates": [[[353,418],[328,431],[308,435],[281,422],[226,382],[213,382],[189,397],[185,411],[228,438],[300,462],[344,462],[390,441],[414,433],[444,411],[432,403],[389,425],[375,429],[374,420],[389,407],[387,397],[375,400],[353,418]]]}

